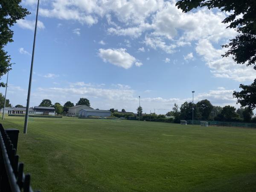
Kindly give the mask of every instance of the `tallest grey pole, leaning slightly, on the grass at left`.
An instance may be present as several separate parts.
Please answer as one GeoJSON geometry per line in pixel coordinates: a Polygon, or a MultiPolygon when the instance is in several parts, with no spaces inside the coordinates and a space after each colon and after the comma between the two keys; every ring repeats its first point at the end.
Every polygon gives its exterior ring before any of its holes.
{"type": "Polygon", "coordinates": [[[32,59],[31,59],[31,67],[30,67],[30,76],[29,76],[29,90],[28,90],[28,98],[27,98],[27,105],[26,105],[25,123],[24,123],[24,129],[23,129],[23,133],[24,134],[26,134],[26,131],[27,131],[27,128],[28,128],[29,101],[30,101],[30,91],[31,91],[32,74],[33,74],[33,63],[34,63],[34,52],[35,52],[35,37],[36,37],[36,28],[37,28],[37,21],[38,21],[38,8],[39,8],[39,0],[38,0],[38,6],[37,6],[37,10],[36,10],[34,43],[33,43],[32,59]]]}

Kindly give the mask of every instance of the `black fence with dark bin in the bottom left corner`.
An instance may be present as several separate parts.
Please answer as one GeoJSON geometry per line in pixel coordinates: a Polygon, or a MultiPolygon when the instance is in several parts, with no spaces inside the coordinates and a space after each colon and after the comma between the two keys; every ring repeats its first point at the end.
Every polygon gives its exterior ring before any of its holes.
{"type": "Polygon", "coordinates": [[[0,192],[33,192],[30,175],[16,154],[19,130],[4,129],[0,124],[0,192]]]}

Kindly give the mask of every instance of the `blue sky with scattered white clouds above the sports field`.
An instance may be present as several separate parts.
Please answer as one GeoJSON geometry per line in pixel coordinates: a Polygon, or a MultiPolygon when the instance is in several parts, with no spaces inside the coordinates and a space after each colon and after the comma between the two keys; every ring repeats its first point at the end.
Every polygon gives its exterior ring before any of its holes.
{"type": "MultiPolygon", "coordinates": [[[[26,105],[36,3],[23,0],[32,14],[12,28],[6,46],[15,63],[12,105],[26,105]]],[[[144,112],[166,113],[195,90],[195,102],[238,108],[233,90],[256,73],[221,58],[221,44],[236,35],[225,17],[207,9],[185,14],[172,0],[41,0],[30,106],[86,97],[93,108],[135,112],[141,96],[144,112]]]]}

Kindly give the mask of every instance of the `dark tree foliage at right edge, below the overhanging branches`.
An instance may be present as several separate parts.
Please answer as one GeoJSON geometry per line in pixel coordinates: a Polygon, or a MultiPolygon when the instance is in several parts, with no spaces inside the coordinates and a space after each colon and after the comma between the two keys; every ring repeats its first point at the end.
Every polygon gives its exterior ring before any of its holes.
{"type": "Polygon", "coordinates": [[[242,90],[234,91],[233,97],[237,99],[242,107],[248,106],[251,110],[256,108],[256,79],[250,85],[240,84],[242,90]]]}

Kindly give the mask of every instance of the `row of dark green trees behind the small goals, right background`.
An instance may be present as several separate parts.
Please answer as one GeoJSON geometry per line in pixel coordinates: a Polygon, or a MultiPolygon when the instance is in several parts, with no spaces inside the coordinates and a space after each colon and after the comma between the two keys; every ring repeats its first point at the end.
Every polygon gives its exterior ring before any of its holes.
{"type": "Polygon", "coordinates": [[[218,120],[218,121],[246,121],[249,122],[256,117],[253,117],[253,110],[249,107],[239,108],[227,105],[223,108],[220,106],[213,106],[209,100],[204,99],[196,104],[192,102],[184,102],[180,108],[175,103],[172,111],[166,113],[167,116],[174,116],[175,122],[180,119],[192,119],[194,111],[194,119],[198,120],[218,120]]]}

